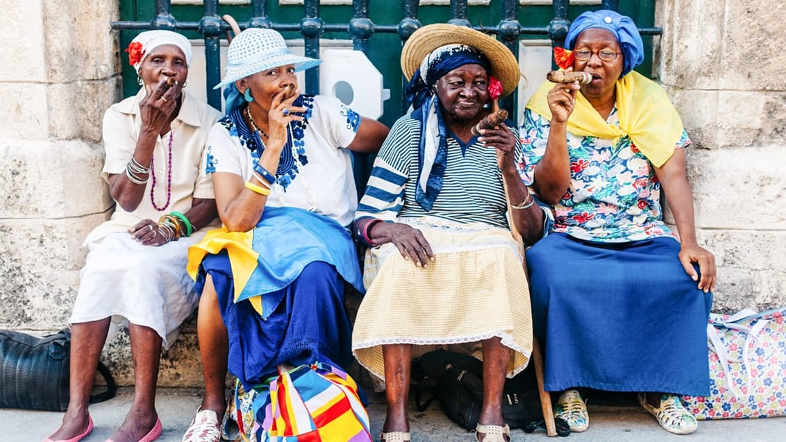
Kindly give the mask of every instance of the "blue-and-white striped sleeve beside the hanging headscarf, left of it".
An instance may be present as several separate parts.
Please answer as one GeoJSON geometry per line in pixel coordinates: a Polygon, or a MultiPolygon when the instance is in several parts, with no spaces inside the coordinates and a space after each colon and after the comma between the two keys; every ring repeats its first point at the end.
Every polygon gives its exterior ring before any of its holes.
{"type": "Polygon", "coordinates": [[[404,203],[404,189],[410,170],[417,161],[417,142],[420,128],[416,120],[404,116],[395,122],[387,135],[365,187],[363,198],[355,212],[355,221],[365,217],[396,221],[404,203]]]}

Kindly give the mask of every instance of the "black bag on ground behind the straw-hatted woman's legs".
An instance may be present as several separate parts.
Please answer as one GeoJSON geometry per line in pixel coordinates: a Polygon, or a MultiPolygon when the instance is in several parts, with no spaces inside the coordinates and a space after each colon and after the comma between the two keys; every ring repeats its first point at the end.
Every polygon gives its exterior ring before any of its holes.
{"type": "MultiPolygon", "coordinates": [[[[435,350],[413,361],[413,390],[419,411],[432,400],[439,401],[445,415],[465,429],[475,429],[483,405],[483,363],[472,356],[435,350]],[[434,397],[421,396],[432,390],[434,397]]],[[[510,428],[524,428],[543,419],[538,384],[527,369],[505,379],[502,390],[502,417],[510,428]]]]}

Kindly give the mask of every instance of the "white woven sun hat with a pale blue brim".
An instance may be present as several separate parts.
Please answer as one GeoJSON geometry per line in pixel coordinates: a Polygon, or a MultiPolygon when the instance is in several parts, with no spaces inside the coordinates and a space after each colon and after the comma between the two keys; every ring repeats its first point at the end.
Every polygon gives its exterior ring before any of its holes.
{"type": "Polygon", "coordinates": [[[226,53],[226,75],[213,89],[270,68],[294,64],[295,71],[304,71],[320,63],[321,60],[293,54],[277,31],[249,27],[230,43],[226,53]]]}

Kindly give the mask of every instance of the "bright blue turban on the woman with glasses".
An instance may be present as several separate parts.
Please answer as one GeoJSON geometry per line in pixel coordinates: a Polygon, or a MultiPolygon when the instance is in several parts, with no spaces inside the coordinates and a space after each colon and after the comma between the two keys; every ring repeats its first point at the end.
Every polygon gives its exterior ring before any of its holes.
{"type": "Polygon", "coordinates": [[[629,16],[623,16],[608,9],[587,12],[576,17],[576,20],[571,23],[571,28],[567,30],[565,48],[573,49],[578,35],[589,27],[612,31],[612,34],[617,38],[619,46],[623,49],[625,60],[621,77],[633,71],[644,61],[644,43],[641,42],[641,35],[638,33],[634,20],[631,20],[629,16]]]}

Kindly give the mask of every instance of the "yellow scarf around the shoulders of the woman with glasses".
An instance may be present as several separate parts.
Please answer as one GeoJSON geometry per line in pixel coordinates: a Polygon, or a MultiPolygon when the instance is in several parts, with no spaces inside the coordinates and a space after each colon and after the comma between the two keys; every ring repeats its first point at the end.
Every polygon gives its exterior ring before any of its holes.
{"type": "MultiPolygon", "coordinates": [[[[546,95],[553,87],[554,83],[544,82],[530,98],[527,108],[551,119],[546,95]]],[[[611,138],[614,144],[620,137],[628,135],[652,164],[663,166],[674,153],[674,144],[679,141],[683,130],[680,115],[666,91],[656,82],[631,71],[617,80],[616,100],[619,127],[605,122],[578,91],[575,109],[567,119],[567,131],[579,137],[611,138]]]]}

